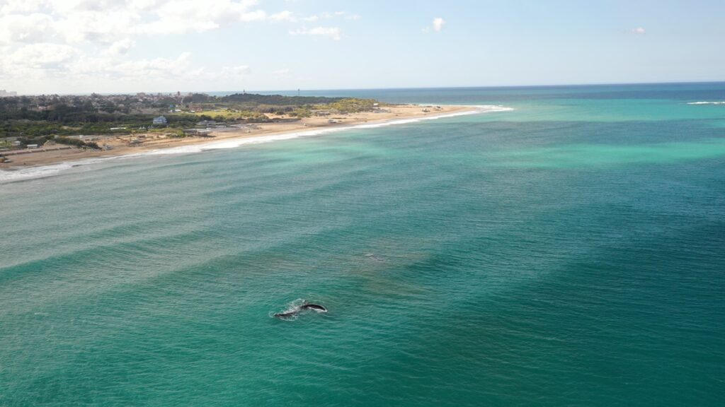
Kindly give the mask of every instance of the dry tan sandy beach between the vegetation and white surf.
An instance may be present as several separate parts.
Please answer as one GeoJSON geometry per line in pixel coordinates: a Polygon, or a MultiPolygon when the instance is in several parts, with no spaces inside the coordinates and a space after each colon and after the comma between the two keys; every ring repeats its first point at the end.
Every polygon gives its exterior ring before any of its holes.
{"type": "Polygon", "coordinates": [[[48,146],[33,150],[12,151],[5,154],[9,162],[0,163],[0,170],[12,171],[28,167],[39,167],[61,162],[80,161],[110,156],[123,156],[141,154],[150,151],[159,151],[167,148],[194,146],[202,143],[216,143],[243,138],[258,138],[260,136],[284,135],[307,130],[325,130],[336,127],[352,127],[355,125],[373,125],[382,122],[391,122],[402,119],[419,119],[447,116],[465,112],[476,112],[481,108],[476,106],[435,106],[423,107],[417,105],[386,106],[382,112],[362,112],[354,114],[334,114],[328,117],[308,117],[294,122],[274,122],[254,125],[247,129],[227,127],[213,130],[210,137],[167,138],[164,135],[123,135],[99,138],[99,145],[110,146],[104,151],[91,151],[68,146],[48,146]],[[137,139],[137,146],[130,146],[129,141],[137,139]]]}

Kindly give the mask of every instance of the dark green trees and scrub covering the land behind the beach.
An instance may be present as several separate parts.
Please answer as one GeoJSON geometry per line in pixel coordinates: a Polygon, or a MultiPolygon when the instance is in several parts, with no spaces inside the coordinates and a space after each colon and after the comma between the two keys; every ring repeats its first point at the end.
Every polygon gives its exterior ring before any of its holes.
{"type": "Polygon", "coordinates": [[[79,147],[96,148],[74,135],[129,135],[162,127],[173,137],[183,137],[183,129],[200,121],[227,125],[271,122],[276,117],[311,117],[324,110],[339,114],[370,111],[373,99],[326,98],[311,96],[258,95],[237,93],[210,96],[204,93],[176,95],[101,96],[13,96],[0,98],[0,142],[7,138],[27,144],[43,144],[59,139],[79,147]],[[154,126],[154,117],[164,115],[167,125],[154,126]],[[76,140],[76,141],[69,141],[76,140]],[[80,143],[83,143],[81,145],[80,143]]]}

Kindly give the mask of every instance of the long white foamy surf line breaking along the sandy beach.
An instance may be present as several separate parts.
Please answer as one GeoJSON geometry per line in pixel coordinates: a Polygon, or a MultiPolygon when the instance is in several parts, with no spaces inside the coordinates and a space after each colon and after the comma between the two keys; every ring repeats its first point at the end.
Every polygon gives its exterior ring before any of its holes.
{"type": "Polygon", "coordinates": [[[407,125],[409,123],[422,122],[424,120],[435,120],[445,119],[447,117],[458,117],[467,116],[470,114],[481,114],[481,113],[492,113],[492,112],[510,112],[513,108],[500,106],[500,105],[455,105],[463,107],[471,107],[472,110],[466,110],[464,112],[453,112],[443,114],[433,114],[425,117],[413,117],[410,119],[390,119],[385,122],[371,123],[371,124],[358,124],[358,125],[347,125],[340,127],[331,127],[319,130],[303,130],[294,131],[290,133],[279,133],[272,135],[258,135],[253,137],[241,137],[241,138],[230,138],[228,140],[210,141],[209,143],[194,144],[193,146],[179,146],[169,148],[159,148],[158,150],[144,151],[142,153],[131,153],[121,154],[118,156],[107,156],[107,157],[94,157],[89,159],[81,159],[77,161],[64,161],[56,164],[42,165],[38,167],[27,167],[21,169],[15,169],[11,171],[0,170],[0,184],[7,182],[14,182],[20,180],[29,180],[33,178],[51,177],[57,175],[66,169],[72,167],[78,167],[80,165],[96,164],[101,161],[108,161],[111,159],[124,159],[133,158],[139,156],[154,156],[154,155],[165,155],[165,154],[192,154],[200,153],[207,150],[218,150],[224,148],[236,148],[244,146],[246,144],[260,144],[270,143],[272,141],[279,140],[291,140],[294,138],[312,137],[316,135],[323,135],[328,133],[339,133],[346,130],[355,129],[373,129],[377,127],[387,127],[394,125],[407,125]]]}

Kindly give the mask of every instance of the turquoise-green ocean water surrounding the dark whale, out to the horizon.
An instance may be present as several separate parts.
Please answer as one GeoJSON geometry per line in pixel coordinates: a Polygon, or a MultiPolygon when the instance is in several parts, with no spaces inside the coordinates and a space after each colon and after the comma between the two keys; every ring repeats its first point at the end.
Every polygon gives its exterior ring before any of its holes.
{"type": "Polygon", "coordinates": [[[722,405],[725,84],[343,93],[515,110],[5,175],[0,406],[722,405]]]}

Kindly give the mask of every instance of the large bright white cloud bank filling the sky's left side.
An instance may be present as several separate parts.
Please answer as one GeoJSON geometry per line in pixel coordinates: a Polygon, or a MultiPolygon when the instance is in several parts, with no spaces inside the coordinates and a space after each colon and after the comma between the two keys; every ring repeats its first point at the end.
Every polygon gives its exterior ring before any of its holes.
{"type": "MultiPolygon", "coordinates": [[[[318,21],[322,15],[360,18],[348,12],[268,14],[257,0],[0,0],[0,85],[75,91],[71,83],[91,86],[103,80],[118,81],[115,88],[122,83],[138,88],[170,81],[239,80],[251,75],[248,65],[207,70],[194,66],[188,53],[168,56],[159,49],[159,57],[134,59],[146,50],[130,50],[153,35],[193,35],[262,21],[287,22],[292,35],[340,40],[339,27],[297,25],[318,21]],[[56,86],[59,83],[62,86],[56,86]]],[[[286,77],[289,69],[274,75],[286,77]]]]}

